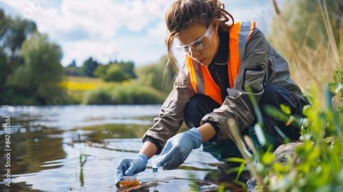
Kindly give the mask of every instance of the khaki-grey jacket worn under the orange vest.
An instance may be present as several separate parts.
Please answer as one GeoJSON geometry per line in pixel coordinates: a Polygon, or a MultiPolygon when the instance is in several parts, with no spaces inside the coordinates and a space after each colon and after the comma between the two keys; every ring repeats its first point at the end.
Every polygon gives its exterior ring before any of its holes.
{"type": "MultiPolygon", "coordinates": [[[[193,62],[196,61],[193,60],[193,62]]],[[[222,106],[205,115],[202,123],[204,121],[217,122],[220,128],[217,139],[230,138],[228,119],[234,119],[239,130],[244,130],[256,117],[246,88],[247,86],[251,88],[252,94],[259,102],[265,84],[277,84],[296,95],[303,95],[289,76],[287,62],[268,43],[263,33],[255,28],[246,43],[246,51],[240,62],[233,88],[227,89],[228,96],[222,106]]],[[[151,136],[158,139],[161,147],[164,147],[167,140],[178,132],[183,122],[185,106],[195,94],[189,71],[186,64],[183,64],[174,90],[165,100],[158,117],[154,119],[154,125],[144,134],[143,140],[146,136],[151,136]]]]}

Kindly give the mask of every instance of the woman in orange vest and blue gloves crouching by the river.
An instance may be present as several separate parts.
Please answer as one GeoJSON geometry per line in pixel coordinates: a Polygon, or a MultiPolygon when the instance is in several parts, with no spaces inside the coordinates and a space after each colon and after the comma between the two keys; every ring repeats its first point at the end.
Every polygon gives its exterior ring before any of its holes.
{"type": "MultiPolygon", "coordinates": [[[[155,154],[166,154],[158,165],[175,169],[202,143],[204,151],[218,159],[240,156],[229,139],[227,120],[235,120],[242,133],[253,128],[256,115],[249,94],[259,102],[260,109],[284,104],[292,115],[301,115],[308,103],[290,79],[287,62],[255,22],[229,25],[230,19],[233,23],[233,17],[217,0],[178,0],[167,10],[169,63],[176,63],[172,52],[176,43],[175,48],[186,54],[185,64],[177,70],[174,90],[144,134],[137,157],[119,161],[117,183],[123,173],[144,171],[147,159],[155,154]],[[176,134],[182,121],[190,130],[176,134]]],[[[277,126],[290,139],[300,136],[298,128],[286,126],[264,112],[262,115],[268,135],[280,141],[281,136],[274,130],[277,126]]],[[[274,144],[277,147],[280,142],[274,144]]]]}

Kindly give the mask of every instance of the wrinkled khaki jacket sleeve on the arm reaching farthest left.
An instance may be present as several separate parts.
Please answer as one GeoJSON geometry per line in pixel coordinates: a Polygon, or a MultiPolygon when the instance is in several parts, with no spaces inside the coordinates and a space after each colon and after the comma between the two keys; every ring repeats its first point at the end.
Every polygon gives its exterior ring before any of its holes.
{"type": "Polygon", "coordinates": [[[174,83],[174,88],[163,103],[158,117],[154,118],[154,125],[143,135],[143,141],[150,136],[158,140],[163,148],[167,140],[174,136],[183,122],[184,110],[187,102],[195,95],[188,70],[182,70],[174,83]]]}

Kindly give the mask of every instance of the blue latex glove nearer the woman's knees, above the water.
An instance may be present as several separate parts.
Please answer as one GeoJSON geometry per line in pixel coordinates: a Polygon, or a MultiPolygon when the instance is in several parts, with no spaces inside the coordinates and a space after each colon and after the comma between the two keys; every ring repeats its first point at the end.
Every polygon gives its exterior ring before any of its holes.
{"type": "Polygon", "coordinates": [[[157,166],[164,169],[175,169],[185,162],[192,149],[198,149],[202,144],[202,136],[197,128],[191,128],[168,139],[161,156],[165,155],[157,166]]]}

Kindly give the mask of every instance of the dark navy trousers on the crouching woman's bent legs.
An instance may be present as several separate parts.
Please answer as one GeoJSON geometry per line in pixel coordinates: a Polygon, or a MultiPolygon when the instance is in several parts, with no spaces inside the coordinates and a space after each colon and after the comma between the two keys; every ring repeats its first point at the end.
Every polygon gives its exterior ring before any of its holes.
{"type": "MultiPolygon", "coordinates": [[[[283,134],[289,137],[289,139],[298,140],[300,136],[299,128],[294,127],[293,125],[287,126],[285,125],[285,122],[280,122],[278,119],[270,117],[270,115],[266,114],[265,110],[263,110],[265,106],[274,106],[275,108],[280,109],[281,104],[289,106],[292,115],[302,116],[303,106],[309,103],[302,97],[290,93],[281,86],[274,84],[265,86],[264,93],[259,101],[259,108],[263,117],[266,134],[272,139],[274,149],[283,143],[283,137],[275,130],[275,126],[277,126],[283,134]]],[[[211,97],[206,95],[194,95],[185,108],[186,125],[188,128],[198,128],[202,117],[209,112],[213,112],[215,108],[220,108],[220,106],[221,105],[211,99],[211,97]]],[[[254,145],[259,146],[254,130],[256,122],[255,119],[252,125],[246,128],[241,134],[248,134],[254,142],[254,145]]],[[[237,146],[231,139],[218,140],[214,143],[206,142],[203,144],[203,149],[217,159],[241,156],[237,146]]]]}

